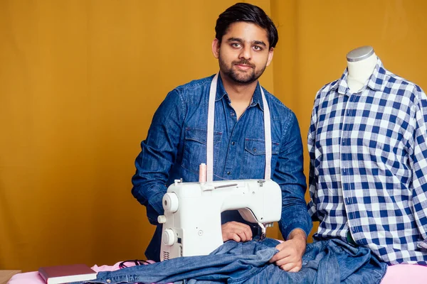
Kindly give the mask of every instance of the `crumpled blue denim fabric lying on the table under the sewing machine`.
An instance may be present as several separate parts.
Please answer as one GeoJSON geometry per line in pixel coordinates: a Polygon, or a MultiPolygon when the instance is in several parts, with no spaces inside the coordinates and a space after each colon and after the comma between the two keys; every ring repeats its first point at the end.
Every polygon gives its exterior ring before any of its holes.
{"type": "MultiPolygon", "coordinates": [[[[268,261],[278,252],[273,239],[236,243],[227,241],[209,256],[173,258],[169,261],[100,272],[87,283],[380,283],[386,263],[369,249],[331,239],[307,245],[298,273],[281,270],[268,261]]],[[[80,284],[78,282],[74,284],[80,284]]]]}

